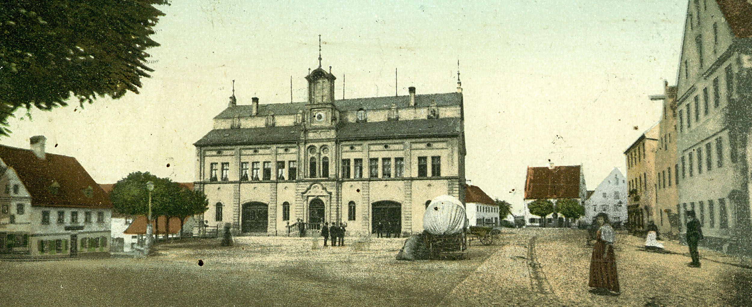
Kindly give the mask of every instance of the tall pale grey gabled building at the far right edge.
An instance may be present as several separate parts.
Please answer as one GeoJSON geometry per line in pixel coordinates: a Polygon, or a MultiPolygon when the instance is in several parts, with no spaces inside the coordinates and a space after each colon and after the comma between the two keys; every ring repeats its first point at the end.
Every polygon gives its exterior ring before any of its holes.
{"type": "Polygon", "coordinates": [[[752,4],[690,0],[677,81],[678,202],[681,231],[694,210],[705,240],[723,251],[749,236],[749,117],[752,4]]]}

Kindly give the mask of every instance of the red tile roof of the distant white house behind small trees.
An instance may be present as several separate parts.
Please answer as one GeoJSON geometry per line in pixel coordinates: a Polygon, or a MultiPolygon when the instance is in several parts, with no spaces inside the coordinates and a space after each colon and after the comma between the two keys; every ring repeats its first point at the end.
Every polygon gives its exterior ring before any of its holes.
{"type": "Polygon", "coordinates": [[[527,167],[525,199],[580,197],[579,165],[527,167]]]}

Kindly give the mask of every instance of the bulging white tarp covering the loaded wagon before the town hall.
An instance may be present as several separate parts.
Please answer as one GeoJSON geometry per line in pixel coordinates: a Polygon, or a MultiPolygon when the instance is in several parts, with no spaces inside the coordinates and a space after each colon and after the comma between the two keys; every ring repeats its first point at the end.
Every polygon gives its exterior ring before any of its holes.
{"type": "Polygon", "coordinates": [[[465,229],[465,206],[456,197],[440,195],[423,213],[423,229],[436,236],[461,233],[465,229]]]}

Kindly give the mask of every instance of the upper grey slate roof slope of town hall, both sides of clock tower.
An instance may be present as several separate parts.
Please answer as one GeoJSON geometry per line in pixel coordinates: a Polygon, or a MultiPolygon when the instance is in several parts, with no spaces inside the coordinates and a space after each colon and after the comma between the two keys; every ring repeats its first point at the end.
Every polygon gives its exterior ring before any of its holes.
{"type": "MultiPolygon", "coordinates": [[[[438,107],[459,106],[462,102],[462,94],[453,92],[445,94],[415,95],[416,107],[428,107],[432,102],[435,102],[438,107]]],[[[305,104],[305,102],[259,104],[258,116],[266,116],[271,112],[274,112],[274,115],[293,115],[298,113],[298,110],[305,110],[305,104]]],[[[340,111],[357,111],[360,108],[363,110],[387,110],[392,107],[392,104],[395,104],[398,108],[408,107],[410,104],[410,96],[353,98],[334,101],[335,107],[340,111]]],[[[250,104],[240,104],[235,107],[228,107],[219,115],[214,116],[214,119],[232,119],[235,116],[248,117],[251,114],[251,109],[252,106],[250,104]]]]}

